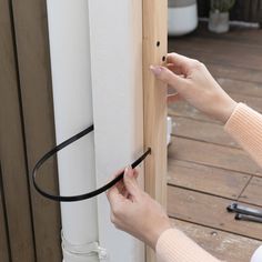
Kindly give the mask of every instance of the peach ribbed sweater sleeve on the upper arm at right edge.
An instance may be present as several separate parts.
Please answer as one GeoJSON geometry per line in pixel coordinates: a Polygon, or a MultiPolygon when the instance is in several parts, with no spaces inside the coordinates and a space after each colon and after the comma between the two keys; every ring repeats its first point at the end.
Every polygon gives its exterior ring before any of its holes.
{"type": "Polygon", "coordinates": [[[224,130],[262,167],[262,115],[239,103],[224,130]]]}

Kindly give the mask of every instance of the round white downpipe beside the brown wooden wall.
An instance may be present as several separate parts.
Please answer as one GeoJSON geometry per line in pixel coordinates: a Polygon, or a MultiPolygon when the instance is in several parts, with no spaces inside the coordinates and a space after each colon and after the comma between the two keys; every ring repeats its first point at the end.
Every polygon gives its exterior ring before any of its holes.
{"type": "MultiPolygon", "coordinates": [[[[92,124],[88,0],[48,0],[57,143],[92,124]]],[[[60,194],[95,188],[93,134],[58,154],[60,194]]],[[[97,262],[97,200],[61,203],[64,262],[97,262]]]]}

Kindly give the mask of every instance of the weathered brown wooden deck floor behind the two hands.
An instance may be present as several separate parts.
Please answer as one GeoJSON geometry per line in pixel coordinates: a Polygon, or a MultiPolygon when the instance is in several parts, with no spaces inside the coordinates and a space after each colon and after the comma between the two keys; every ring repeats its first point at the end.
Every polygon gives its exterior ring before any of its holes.
{"type": "MultiPolygon", "coordinates": [[[[235,100],[262,112],[262,30],[234,28],[212,34],[201,24],[170,39],[169,51],[204,62],[235,100]]],[[[262,170],[223,127],[179,102],[169,148],[168,212],[177,226],[205,250],[230,262],[250,261],[262,244],[262,224],[235,221],[225,208],[238,198],[262,208],[262,170]]]]}

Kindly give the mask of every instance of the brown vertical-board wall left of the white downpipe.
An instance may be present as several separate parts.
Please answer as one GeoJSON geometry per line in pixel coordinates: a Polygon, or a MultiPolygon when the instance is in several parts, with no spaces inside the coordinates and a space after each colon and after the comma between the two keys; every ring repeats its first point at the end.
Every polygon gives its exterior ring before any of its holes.
{"type": "MultiPolygon", "coordinates": [[[[61,261],[59,205],[30,185],[33,164],[54,145],[46,1],[0,0],[0,155],[10,260],[57,262],[61,261]]],[[[41,182],[58,191],[54,161],[44,173],[41,182]]],[[[3,239],[0,250],[7,244],[3,239]]],[[[1,252],[1,262],[3,258],[7,252],[1,252]]]]}

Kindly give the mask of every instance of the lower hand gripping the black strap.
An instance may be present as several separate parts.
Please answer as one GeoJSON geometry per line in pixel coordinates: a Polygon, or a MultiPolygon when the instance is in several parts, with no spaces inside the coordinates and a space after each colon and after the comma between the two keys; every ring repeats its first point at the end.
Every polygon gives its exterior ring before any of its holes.
{"type": "Polygon", "coordinates": [[[171,224],[162,206],[139,188],[137,177],[135,170],[127,168],[123,181],[108,191],[111,221],[117,229],[154,249],[160,234],[171,224]]]}

